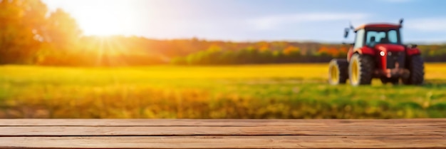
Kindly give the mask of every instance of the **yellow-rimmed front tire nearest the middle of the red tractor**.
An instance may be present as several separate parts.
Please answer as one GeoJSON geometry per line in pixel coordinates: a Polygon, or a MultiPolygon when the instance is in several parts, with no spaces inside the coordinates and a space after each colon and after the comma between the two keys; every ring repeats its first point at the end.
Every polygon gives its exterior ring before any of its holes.
{"type": "Polygon", "coordinates": [[[371,56],[353,54],[348,66],[348,76],[352,86],[370,85],[373,78],[375,61],[371,56]]]}

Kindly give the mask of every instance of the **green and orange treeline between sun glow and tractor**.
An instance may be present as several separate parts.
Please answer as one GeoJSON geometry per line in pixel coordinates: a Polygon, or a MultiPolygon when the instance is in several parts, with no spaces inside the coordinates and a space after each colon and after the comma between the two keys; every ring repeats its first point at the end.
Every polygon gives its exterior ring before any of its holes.
{"type": "Polygon", "coordinates": [[[330,61],[332,58],[345,58],[348,51],[346,46],[341,45],[315,44],[313,48],[303,46],[306,47],[305,50],[287,42],[285,42],[284,47],[277,46],[269,43],[254,43],[248,48],[239,50],[210,46],[207,50],[174,58],[172,63],[180,65],[321,63],[330,61]]]}

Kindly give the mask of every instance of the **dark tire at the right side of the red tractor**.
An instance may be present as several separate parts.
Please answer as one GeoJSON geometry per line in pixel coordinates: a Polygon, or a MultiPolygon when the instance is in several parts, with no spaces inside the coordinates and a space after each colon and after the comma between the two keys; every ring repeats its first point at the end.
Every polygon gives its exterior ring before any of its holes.
{"type": "Polygon", "coordinates": [[[409,78],[403,78],[405,85],[422,85],[425,81],[425,66],[420,55],[408,58],[407,65],[410,75],[409,78]]]}

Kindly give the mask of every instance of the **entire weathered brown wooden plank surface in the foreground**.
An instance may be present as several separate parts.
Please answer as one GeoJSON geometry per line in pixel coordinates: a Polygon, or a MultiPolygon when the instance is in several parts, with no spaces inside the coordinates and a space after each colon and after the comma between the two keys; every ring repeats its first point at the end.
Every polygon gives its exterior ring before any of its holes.
{"type": "Polygon", "coordinates": [[[0,148],[446,148],[446,119],[5,119],[0,148]]]}

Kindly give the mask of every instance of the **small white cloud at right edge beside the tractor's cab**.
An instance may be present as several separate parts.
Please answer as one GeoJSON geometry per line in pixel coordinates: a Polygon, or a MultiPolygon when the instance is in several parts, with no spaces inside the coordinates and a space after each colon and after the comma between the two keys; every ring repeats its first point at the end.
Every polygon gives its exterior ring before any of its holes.
{"type": "Polygon", "coordinates": [[[446,18],[408,19],[405,27],[425,32],[446,32],[446,18]]]}

